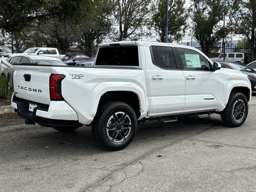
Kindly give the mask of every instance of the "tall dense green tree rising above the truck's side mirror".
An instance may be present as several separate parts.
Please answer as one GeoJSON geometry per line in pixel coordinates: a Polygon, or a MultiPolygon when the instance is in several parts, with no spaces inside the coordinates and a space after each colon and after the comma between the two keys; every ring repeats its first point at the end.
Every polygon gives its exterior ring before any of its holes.
{"type": "Polygon", "coordinates": [[[226,36],[219,24],[225,13],[225,0],[192,0],[193,35],[206,55],[210,46],[226,36]]]}

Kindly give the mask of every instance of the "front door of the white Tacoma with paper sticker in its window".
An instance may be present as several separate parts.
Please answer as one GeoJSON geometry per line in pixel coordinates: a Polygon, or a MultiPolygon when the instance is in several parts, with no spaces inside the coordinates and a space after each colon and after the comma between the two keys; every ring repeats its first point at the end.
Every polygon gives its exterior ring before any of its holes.
{"type": "Polygon", "coordinates": [[[205,56],[189,48],[176,48],[186,79],[184,111],[208,110],[220,106],[223,95],[221,73],[211,71],[212,64],[205,56]]]}

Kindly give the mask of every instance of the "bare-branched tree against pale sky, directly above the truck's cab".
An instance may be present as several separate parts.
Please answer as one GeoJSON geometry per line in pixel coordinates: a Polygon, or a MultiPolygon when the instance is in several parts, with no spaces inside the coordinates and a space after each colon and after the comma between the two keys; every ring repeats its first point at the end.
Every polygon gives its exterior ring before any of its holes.
{"type": "MultiPolygon", "coordinates": [[[[118,26],[118,40],[135,38],[137,30],[149,24],[151,0],[113,0],[112,16],[114,25],[118,26]]],[[[141,35],[141,33],[140,33],[141,35]]]]}

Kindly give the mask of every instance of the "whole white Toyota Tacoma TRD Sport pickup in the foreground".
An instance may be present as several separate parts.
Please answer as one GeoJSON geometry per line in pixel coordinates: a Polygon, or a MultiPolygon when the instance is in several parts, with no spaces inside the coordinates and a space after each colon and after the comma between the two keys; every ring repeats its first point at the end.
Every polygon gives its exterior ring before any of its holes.
{"type": "Polygon", "coordinates": [[[250,80],[196,48],[156,42],[100,44],[94,66],[14,65],[12,106],[26,124],[69,132],[92,126],[100,146],[125,148],[146,120],[221,115],[244,123],[250,80]]]}

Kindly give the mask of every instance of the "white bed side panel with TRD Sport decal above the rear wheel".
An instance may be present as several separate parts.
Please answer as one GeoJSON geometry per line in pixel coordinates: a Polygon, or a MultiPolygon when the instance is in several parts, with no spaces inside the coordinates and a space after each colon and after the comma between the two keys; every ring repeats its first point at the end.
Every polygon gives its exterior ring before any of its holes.
{"type": "Polygon", "coordinates": [[[141,117],[146,116],[146,80],[143,70],[86,67],[52,67],[51,73],[64,74],[62,96],[78,114],[82,124],[93,120],[100,97],[108,91],[132,91],[140,100],[141,117]],[[79,74],[80,78],[72,77],[79,74]]]}

